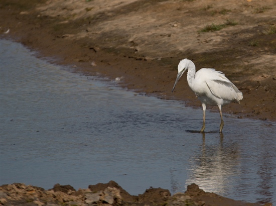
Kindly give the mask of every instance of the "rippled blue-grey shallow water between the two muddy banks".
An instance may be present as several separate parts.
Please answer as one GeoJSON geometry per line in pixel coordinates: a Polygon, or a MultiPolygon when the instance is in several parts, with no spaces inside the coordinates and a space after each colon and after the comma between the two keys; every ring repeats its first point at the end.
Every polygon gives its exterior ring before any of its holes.
{"type": "Polygon", "coordinates": [[[187,185],[276,203],[275,123],[184,107],[69,72],[1,40],[0,184],[76,189],[116,181],[130,194],[187,185]]]}

